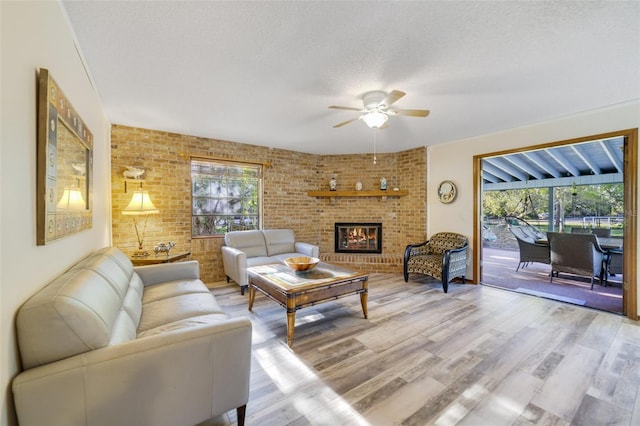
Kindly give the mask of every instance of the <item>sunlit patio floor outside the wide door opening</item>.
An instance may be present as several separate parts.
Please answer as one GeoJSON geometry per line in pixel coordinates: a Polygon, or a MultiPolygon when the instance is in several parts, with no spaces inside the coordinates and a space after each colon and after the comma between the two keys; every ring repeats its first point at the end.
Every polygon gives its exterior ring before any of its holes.
{"type": "Polygon", "coordinates": [[[610,276],[606,287],[596,280],[593,290],[586,277],[561,273],[549,282],[551,267],[541,263],[518,265],[518,251],[483,247],[483,285],[504,288],[574,305],[622,314],[622,275],[610,276]]]}

